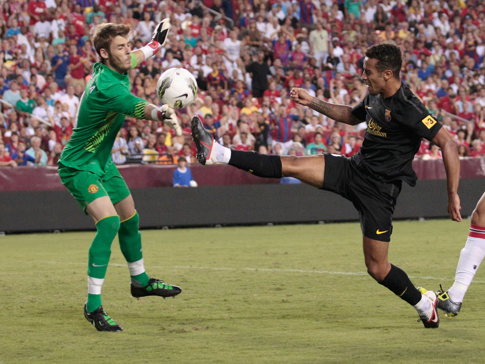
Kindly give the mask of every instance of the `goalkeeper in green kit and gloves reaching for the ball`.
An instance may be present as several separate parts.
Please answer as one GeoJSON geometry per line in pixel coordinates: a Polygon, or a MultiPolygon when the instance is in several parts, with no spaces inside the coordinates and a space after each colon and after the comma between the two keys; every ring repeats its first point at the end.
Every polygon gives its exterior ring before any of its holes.
{"type": "Polygon", "coordinates": [[[169,19],[162,20],[152,40],[131,52],[128,25],[105,23],[97,26],[93,43],[100,61],[93,67],[81,97],[77,127],[59,160],[61,181],[96,223],[97,233],[89,248],[88,299],[84,316],[98,331],[122,330],[101,305],[101,286],[116,234],[128,262],[133,297],[165,298],[181,292],[177,286],[146,275],[138,231],[139,216],[128,186],[111,160],[113,142],[125,116],[163,121],[177,135],[182,134],[173,109],[167,105],[159,108],[131,95],[127,74],[157,53],[165,43],[169,28],[169,19]]]}

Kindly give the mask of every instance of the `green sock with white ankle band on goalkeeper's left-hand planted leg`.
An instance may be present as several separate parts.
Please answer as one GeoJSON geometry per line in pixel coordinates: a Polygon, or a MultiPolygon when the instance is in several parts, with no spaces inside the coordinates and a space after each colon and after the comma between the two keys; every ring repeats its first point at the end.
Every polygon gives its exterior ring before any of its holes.
{"type": "Polygon", "coordinates": [[[110,261],[111,243],[120,226],[118,215],[107,216],[96,224],[96,236],[89,248],[88,301],[86,310],[93,312],[101,306],[101,286],[110,261]]]}

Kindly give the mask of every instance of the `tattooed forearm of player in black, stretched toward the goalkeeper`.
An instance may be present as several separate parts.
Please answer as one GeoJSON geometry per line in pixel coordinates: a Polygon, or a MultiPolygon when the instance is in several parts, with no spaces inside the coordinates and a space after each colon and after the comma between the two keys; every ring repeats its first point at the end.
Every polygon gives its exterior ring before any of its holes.
{"type": "Polygon", "coordinates": [[[357,125],[363,120],[357,119],[352,115],[352,107],[347,105],[332,104],[308,95],[303,88],[293,87],[290,96],[296,103],[300,105],[309,106],[320,114],[330,117],[335,121],[344,124],[357,125]]]}

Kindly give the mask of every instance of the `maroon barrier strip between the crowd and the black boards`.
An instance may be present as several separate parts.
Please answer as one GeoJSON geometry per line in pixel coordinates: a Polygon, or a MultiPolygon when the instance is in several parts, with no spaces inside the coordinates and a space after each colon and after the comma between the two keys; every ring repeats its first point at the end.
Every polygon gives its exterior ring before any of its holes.
{"type": "MultiPolygon", "coordinates": [[[[129,188],[166,187],[172,185],[177,165],[121,165],[119,171],[129,188]]],[[[413,168],[422,180],[446,178],[441,159],[415,160],[413,168]]],[[[190,165],[199,186],[279,183],[277,179],[259,178],[230,165],[190,165]]],[[[461,160],[460,178],[485,177],[485,157],[461,160]]],[[[57,167],[0,167],[0,191],[63,190],[57,167]]]]}

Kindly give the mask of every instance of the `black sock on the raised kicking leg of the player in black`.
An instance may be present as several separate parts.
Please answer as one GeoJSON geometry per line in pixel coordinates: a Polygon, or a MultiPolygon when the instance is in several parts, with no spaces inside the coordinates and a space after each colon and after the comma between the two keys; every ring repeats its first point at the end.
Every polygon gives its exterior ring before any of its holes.
{"type": "Polygon", "coordinates": [[[252,151],[231,150],[229,165],[243,169],[258,177],[282,177],[281,158],[279,155],[266,155],[252,151]]]}

